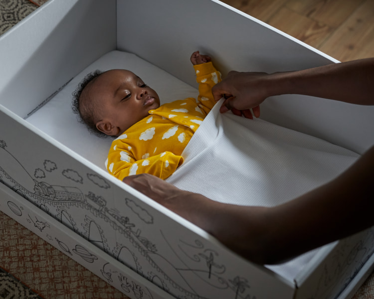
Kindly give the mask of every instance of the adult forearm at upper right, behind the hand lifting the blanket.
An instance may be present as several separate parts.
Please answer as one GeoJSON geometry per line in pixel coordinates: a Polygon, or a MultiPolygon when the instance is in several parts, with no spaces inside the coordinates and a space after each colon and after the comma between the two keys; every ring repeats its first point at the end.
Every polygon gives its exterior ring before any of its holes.
{"type": "Polygon", "coordinates": [[[269,76],[272,95],[301,94],[353,104],[374,104],[374,58],[269,76]]]}

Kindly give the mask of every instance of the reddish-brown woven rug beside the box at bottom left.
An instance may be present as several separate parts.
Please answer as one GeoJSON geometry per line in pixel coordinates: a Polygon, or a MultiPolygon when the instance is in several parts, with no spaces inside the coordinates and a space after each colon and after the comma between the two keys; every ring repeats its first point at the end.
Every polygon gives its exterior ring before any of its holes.
{"type": "MultiPolygon", "coordinates": [[[[128,299],[2,212],[0,224],[0,266],[40,294],[39,298],[128,299]]],[[[29,289],[28,287],[26,289],[29,289]]],[[[11,288],[6,290],[10,291],[11,288]]],[[[18,297],[17,289],[8,297],[1,297],[1,291],[0,282],[0,299],[38,298],[18,297]]],[[[6,295],[6,291],[4,292],[6,295]]]]}

